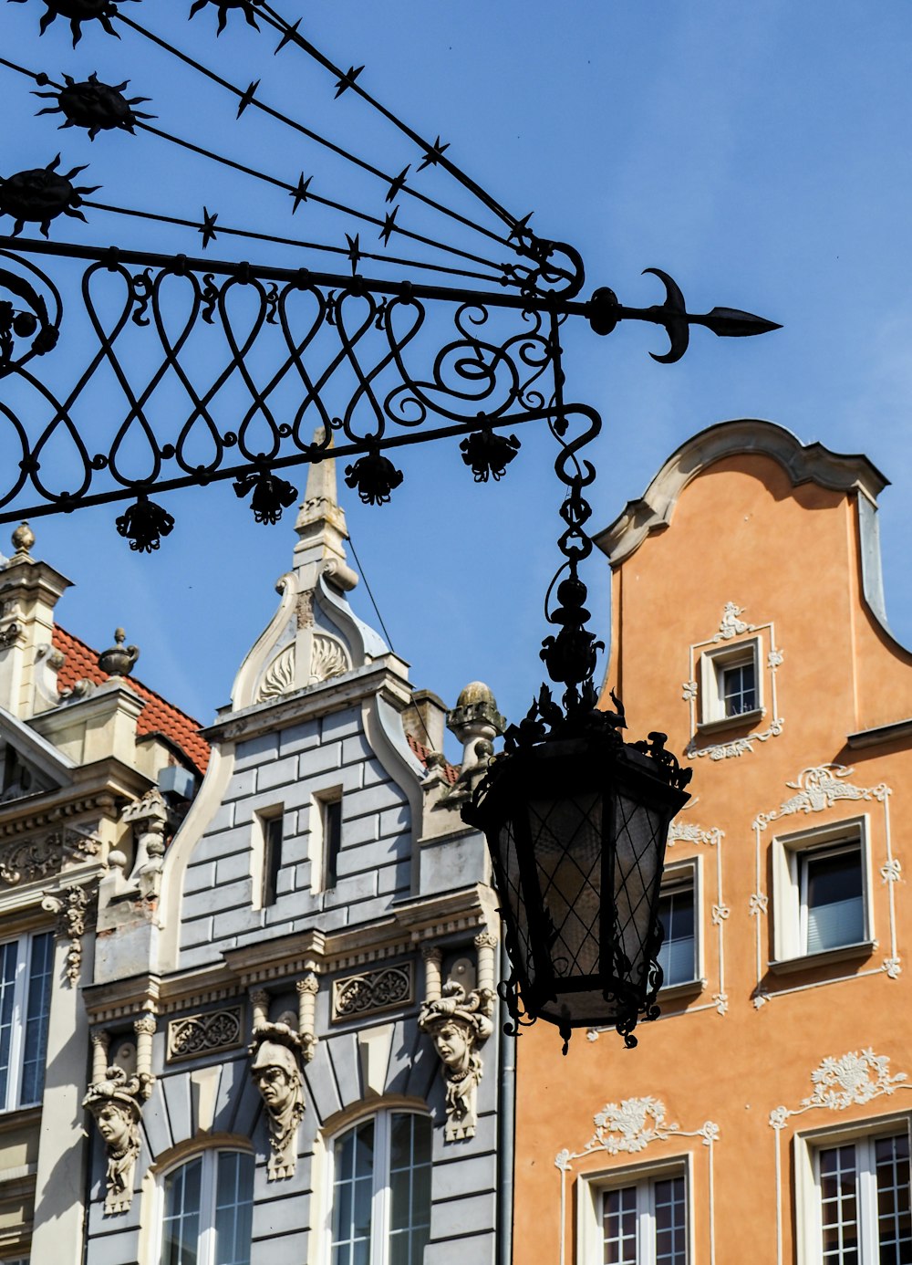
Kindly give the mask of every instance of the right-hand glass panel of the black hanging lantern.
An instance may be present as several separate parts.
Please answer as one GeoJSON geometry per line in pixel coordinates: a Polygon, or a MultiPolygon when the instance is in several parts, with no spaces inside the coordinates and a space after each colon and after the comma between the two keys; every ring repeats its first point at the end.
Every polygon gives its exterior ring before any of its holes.
{"type": "Polygon", "coordinates": [[[614,810],[615,973],[634,988],[647,983],[668,813],[619,794],[614,810]],[[625,959],[625,961],[623,960],[625,959]]]}

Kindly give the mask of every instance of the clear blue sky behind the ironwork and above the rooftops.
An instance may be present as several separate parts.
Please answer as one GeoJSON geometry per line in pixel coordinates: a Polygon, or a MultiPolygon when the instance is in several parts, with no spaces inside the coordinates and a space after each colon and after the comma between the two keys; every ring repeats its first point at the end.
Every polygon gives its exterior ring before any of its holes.
{"type": "MultiPolygon", "coordinates": [[[[273,58],[272,33],[258,35],[234,15],[216,40],[215,11],[188,24],[188,0],[121,8],[226,77],[261,76],[302,121],[331,126],[384,166],[403,153],[354,95],[333,104],[327,77],[303,58],[288,49],[273,58]]],[[[864,452],[893,482],[880,501],[887,606],[911,644],[908,3],[282,0],[277,8],[292,20],[304,15],[308,38],[340,63],[365,63],[363,82],[428,139],[450,142],[456,161],[512,211],[534,209],[541,235],[577,247],[584,295],[610,285],[624,302],[656,302],[661,287],[640,272],[659,267],[692,310],[735,306],[783,324],[745,340],[695,331],[685,359],[667,367],[648,355],[664,349],[652,328],[621,326],[610,339],[582,321],[566,330],[567,398],[604,419],[594,445],[594,525],[639,496],[688,435],[726,417],[767,417],[806,443],[864,452]]],[[[97,68],[102,80],[130,78],[131,92],[154,99],[148,109],[159,126],[254,156],[289,178],[313,170],[341,201],[360,205],[366,196],[297,138],[255,120],[248,126],[246,115],[244,126],[235,124],[230,102],[135,35],[116,42],[86,24],[73,51],[58,19],[38,39],[43,11],[42,0],[0,9],[4,56],[51,75],[97,68]]],[[[99,197],[111,202],[189,215],[206,202],[225,223],[246,216],[292,226],[283,194],[176,158],[154,138],[107,134],[90,144],[76,129],[57,133],[57,120],[33,118],[28,87],[0,73],[4,176],[62,149],[67,166],[91,161],[82,178],[101,182],[99,197]]],[[[309,210],[296,216],[297,231],[339,240],[351,228],[318,210],[306,224],[309,210]]],[[[52,235],[198,248],[192,234],[102,213],[85,226],[57,221],[52,235]]],[[[277,258],[253,244],[217,249],[277,258]]],[[[485,679],[512,719],[541,681],[542,600],[558,563],[552,444],[533,429],[522,428],[522,452],[498,484],[474,484],[448,441],[403,455],[405,482],[390,505],[345,498],[355,549],[414,684],[452,705],[467,681],[485,679]]],[[[302,471],[302,490],[303,481],[302,471]]],[[[141,646],[143,679],[206,721],[272,615],[293,520],[254,524],[230,487],[174,493],[167,503],[178,522],[154,557],[128,550],[111,509],[35,521],[35,552],[77,586],[61,602],[61,622],[100,648],[123,624],[141,646]]],[[[606,632],[606,567],[592,560],[586,578],[594,622],[606,632]]],[[[363,587],[355,600],[375,622],[363,587]]]]}

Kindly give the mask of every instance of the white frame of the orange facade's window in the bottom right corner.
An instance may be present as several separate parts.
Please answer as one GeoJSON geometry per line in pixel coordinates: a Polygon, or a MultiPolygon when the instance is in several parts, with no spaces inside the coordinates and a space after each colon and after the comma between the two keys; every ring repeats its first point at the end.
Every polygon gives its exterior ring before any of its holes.
{"type": "MultiPolygon", "coordinates": [[[[909,1151],[912,1152],[912,1120],[908,1112],[897,1112],[848,1127],[834,1126],[829,1130],[796,1133],[793,1151],[797,1265],[822,1265],[822,1218],[817,1169],[820,1152],[836,1146],[858,1146],[859,1142],[873,1146],[878,1138],[896,1137],[903,1132],[909,1138],[909,1151]]],[[[873,1176],[873,1173],[869,1176],[873,1176]]],[[[870,1233],[872,1228],[877,1226],[875,1185],[873,1189],[874,1227],[870,1225],[870,1206],[867,1209],[863,1207],[867,1197],[865,1190],[859,1190],[859,1265],[877,1265],[879,1260],[877,1240],[870,1233]]]]}

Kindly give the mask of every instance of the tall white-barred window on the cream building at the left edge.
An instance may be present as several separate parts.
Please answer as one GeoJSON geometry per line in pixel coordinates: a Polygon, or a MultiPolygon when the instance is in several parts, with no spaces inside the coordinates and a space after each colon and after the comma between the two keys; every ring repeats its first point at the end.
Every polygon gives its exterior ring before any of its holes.
{"type": "Polygon", "coordinates": [[[53,960],[49,931],[0,944],[0,1111],[42,1101],[53,960]]]}

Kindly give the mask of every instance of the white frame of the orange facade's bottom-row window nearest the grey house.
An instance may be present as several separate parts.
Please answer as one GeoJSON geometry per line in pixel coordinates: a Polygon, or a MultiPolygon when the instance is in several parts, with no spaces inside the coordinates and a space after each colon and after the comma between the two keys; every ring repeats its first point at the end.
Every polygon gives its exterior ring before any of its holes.
{"type": "Polygon", "coordinates": [[[671,1178],[685,1179],[685,1207],[687,1211],[687,1262],[696,1265],[693,1251],[693,1174],[690,1152],[652,1164],[637,1164],[623,1169],[608,1169],[599,1173],[584,1173],[576,1183],[576,1265],[603,1265],[604,1232],[601,1202],[605,1193],[623,1187],[638,1187],[637,1230],[638,1250],[642,1260],[638,1265],[654,1265],[656,1238],[643,1243],[648,1235],[644,1214],[652,1221],[648,1208],[642,1211],[656,1182],[671,1178]],[[645,1252],[645,1255],[643,1255],[645,1252]]]}

